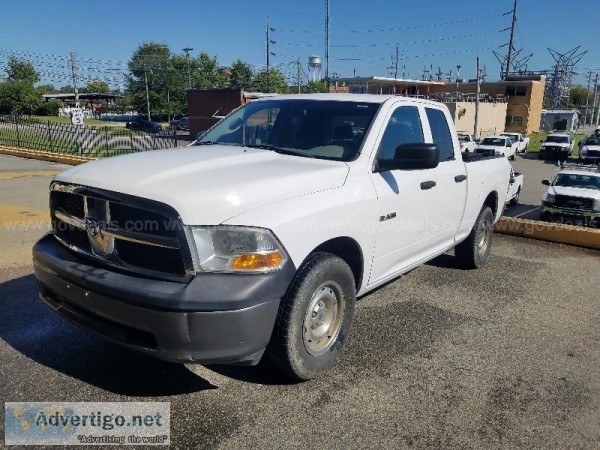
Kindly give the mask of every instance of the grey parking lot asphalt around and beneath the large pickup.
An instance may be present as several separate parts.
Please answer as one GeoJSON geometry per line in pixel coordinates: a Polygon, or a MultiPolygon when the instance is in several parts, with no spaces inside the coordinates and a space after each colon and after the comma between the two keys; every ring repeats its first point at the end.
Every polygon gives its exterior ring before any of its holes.
{"type": "MultiPolygon", "coordinates": [[[[0,205],[47,207],[41,172],[62,167],[9,164],[40,173],[0,178],[0,205]]],[[[340,363],[289,384],[153,360],[57,317],[31,267],[47,218],[28,220],[0,226],[0,402],[168,401],[175,448],[600,447],[597,251],[496,235],[483,269],[443,255],[360,299],[340,363]]]]}

